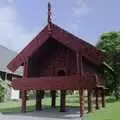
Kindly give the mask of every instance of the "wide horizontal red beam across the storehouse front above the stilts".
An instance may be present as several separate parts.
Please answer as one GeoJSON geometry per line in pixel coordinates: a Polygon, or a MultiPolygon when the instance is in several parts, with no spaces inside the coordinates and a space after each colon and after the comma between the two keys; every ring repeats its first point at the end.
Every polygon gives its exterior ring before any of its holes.
{"type": "Polygon", "coordinates": [[[54,76],[40,78],[28,77],[13,80],[12,86],[15,89],[21,90],[80,90],[81,88],[95,88],[96,82],[93,80],[92,75],[89,76],[89,79],[87,79],[86,75],[54,76]]]}

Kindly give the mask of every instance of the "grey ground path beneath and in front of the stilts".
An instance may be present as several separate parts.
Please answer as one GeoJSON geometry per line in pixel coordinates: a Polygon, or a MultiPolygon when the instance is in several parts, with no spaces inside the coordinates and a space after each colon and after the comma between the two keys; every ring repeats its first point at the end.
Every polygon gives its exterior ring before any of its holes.
{"type": "Polygon", "coordinates": [[[40,112],[0,114],[0,120],[80,120],[79,110],[60,113],[56,110],[40,112]]]}

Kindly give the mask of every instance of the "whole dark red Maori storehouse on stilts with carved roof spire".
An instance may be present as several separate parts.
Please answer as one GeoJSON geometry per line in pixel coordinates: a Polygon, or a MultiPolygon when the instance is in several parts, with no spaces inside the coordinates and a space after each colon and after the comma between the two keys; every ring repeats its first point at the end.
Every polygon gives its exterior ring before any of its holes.
{"type": "Polygon", "coordinates": [[[96,109],[99,109],[100,95],[104,107],[104,58],[102,51],[54,24],[51,4],[48,3],[48,24],[8,65],[12,72],[24,66],[23,78],[12,81],[13,88],[22,93],[22,112],[26,112],[29,90],[36,90],[36,110],[41,110],[44,90],[51,91],[51,107],[56,106],[56,91],[61,91],[61,112],[66,108],[67,90],[79,91],[81,117],[84,113],[85,89],[88,90],[88,112],[92,111],[92,91],[95,91],[96,109]]]}

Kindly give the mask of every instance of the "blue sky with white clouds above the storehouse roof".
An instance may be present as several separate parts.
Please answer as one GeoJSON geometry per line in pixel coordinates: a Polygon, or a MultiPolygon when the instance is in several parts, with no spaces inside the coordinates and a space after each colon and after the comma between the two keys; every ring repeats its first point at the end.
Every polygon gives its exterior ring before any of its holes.
{"type": "MultiPolygon", "coordinates": [[[[95,45],[120,30],[120,0],[50,0],[52,21],[95,45]]],[[[21,51],[47,24],[48,0],[0,0],[0,45],[21,51]]]]}

